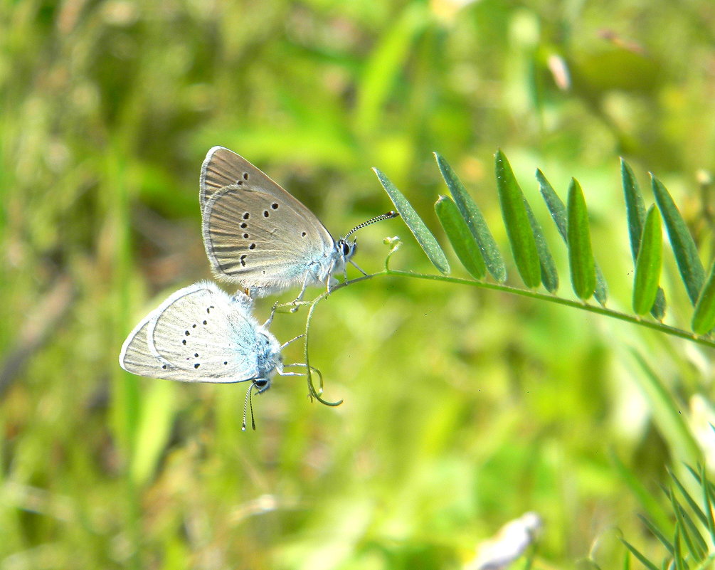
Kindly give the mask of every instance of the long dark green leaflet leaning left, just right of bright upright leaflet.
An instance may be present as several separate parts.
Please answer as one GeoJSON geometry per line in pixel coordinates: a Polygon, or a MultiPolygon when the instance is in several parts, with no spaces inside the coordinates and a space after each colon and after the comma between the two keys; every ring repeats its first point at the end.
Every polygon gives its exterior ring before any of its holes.
{"type": "Polygon", "coordinates": [[[668,230],[668,237],[671,247],[673,247],[680,275],[688,291],[690,302],[695,305],[705,280],[705,270],[698,257],[698,248],[673,198],[662,182],[652,174],[651,185],[668,230]]]}

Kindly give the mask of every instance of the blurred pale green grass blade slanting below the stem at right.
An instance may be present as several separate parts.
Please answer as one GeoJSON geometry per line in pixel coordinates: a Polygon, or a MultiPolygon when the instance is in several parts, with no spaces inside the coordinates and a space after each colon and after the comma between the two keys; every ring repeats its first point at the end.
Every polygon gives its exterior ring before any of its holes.
{"type": "Polygon", "coordinates": [[[634,374],[633,378],[649,403],[659,433],[668,443],[671,453],[674,453],[676,458],[696,463],[700,458],[700,448],[669,390],[643,356],[633,349],[630,352],[644,372],[643,374],[634,374]]]}

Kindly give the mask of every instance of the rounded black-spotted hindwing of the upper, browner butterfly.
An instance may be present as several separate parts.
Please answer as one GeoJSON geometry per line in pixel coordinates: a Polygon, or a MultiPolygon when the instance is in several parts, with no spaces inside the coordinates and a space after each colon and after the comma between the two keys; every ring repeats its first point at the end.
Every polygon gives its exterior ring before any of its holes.
{"type": "Polygon", "coordinates": [[[307,272],[322,275],[335,255],[335,242],[315,215],[279,186],[272,190],[223,187],[202,214],[214,272],[262,294],[300,285],[307,272]]]}

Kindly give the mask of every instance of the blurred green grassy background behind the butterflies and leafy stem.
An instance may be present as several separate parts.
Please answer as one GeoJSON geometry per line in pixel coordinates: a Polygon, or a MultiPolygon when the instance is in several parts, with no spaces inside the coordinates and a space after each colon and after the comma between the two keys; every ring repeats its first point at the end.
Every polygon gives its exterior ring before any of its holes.
{"type": "MultiPolygon", "coordinates": [[[[508,254],[501,147],[566,296],[533,172],[562,197],[576,176],[609,306],[627,310],[619,155],[644,187],[649,169],[666,182],[709,259],[711,1],[16,0],[0,14],[1,570],[460,568],[526,511],[544,521],[536,568],[613,567],[621,531],[663,556],[626,473],[659,496],[666,466],[712,453],[712,354],[694,345],[380,278],[313,320],[311,362],[345,403],[310,403],[303,380],[279,378],[246,433],[245,385],[137,378],[117,356],[149,310],[209,277],[197,182],[216,144],[335,236],[390,208],[379,167],[446,245],[438,151],[508,254]],[[701,451],[669,431],[632,348],[705,434],[701,451]]],[[[361,232],[365,270],[382,267],[388,235],[405,242],[394,267],[434,271],[401,220],[361,232]]],[[[669,318],[686,324],[666,257],[669,318]]],[[[285,341],[304,318],[272,330],[285,341]]]]}

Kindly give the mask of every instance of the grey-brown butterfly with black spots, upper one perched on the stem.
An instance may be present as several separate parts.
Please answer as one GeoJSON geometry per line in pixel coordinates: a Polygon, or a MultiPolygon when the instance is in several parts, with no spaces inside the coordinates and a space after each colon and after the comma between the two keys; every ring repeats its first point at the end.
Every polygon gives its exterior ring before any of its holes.
{"type": "Polygon", "coordinates": [[[209,150],[201,167],[199,203],[204,247],[216,277],[242,286],[252,297],[308,285],[325,285],[352,261],[366,225],[395,217],[388,212],[333,240],[315,214],[246,159],[224,147],[209,150]]]}

